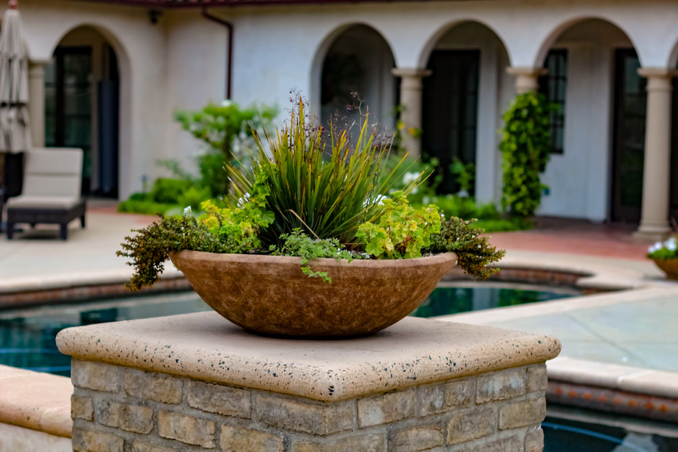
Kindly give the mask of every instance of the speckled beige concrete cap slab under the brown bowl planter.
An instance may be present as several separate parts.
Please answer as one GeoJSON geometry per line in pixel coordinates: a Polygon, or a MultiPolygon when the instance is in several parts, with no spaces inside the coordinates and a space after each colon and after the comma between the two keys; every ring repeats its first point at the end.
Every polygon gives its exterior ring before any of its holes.
{"type": "Polygon", "coordinates": [[[331,401],[544,362],[550,336],[423,318],[366,338],[255,336],[215,312],[64,329],[62,353],[331,401]]]}

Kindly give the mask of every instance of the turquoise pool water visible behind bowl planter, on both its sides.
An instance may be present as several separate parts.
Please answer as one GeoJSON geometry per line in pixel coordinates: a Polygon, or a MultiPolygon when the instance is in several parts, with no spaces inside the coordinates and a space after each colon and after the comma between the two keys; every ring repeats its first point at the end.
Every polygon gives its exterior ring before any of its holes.
{"type": "MultiPolygon", "coordinates": [[[[535,301],[571,297],[571,289],[547,289],[506,284],[442,285],[412,313],[432,317],[535,301]]],[[[0,364],[69,376],[71,362],[56,349],[57,333],[93,323],[187,314],[210,310],[194,292],[0,311],[0,364]]]]}

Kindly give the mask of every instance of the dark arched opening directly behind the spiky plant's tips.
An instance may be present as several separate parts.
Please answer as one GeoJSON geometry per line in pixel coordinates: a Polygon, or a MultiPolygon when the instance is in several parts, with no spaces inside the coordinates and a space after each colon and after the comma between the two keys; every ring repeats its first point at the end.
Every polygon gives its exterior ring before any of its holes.
{"type": "Polygon", "coordinates": [[[394,65],[388,42],[372,27],[352,25],[341,32],[329,45],[320,74],[323,123],[337,112],[358,118],[361,111],[348,111],[347,106],[362,101],[362,114],[369,108],[372,121],[392,127],[397,96],[394,65]]]}

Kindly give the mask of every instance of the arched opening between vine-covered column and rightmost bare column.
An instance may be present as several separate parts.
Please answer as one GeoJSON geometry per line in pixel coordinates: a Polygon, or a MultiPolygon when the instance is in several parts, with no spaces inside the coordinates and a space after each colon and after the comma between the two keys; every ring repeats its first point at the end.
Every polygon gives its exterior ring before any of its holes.
{"type": "Polygon", "coordinates": [[[642,202],[646,79],[619,27],[588,18],[551,36],[540,91],[551,116],[550,194],[542,212],[637,223],[642,202]]]}

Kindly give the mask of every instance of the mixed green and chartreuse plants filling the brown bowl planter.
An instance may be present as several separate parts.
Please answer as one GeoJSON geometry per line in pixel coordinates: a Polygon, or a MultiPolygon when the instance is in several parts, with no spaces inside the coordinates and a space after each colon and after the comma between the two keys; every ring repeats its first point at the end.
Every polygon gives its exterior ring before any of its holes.
{"type": "MultiPolygon", "coordinates": [[[[169,253],[258,253],[301,258],[301,271],[331,282],[313,270],[316,258],[403,259],[454,251],[458,263],[474,276],[503,255],[481,238],[479,229],[460,218],[445,220],[435,205],[414,208],[407,202],[423,179],[404,188],[399,165],[385,170],[389,146],[365,117],[360,135],[343,127],[316,125],[301,99],[289,122],[258,145],[251,170],[226,167],[234,186],[227,207],[205,201],[194,217],[160,216],[127,237],[118,255],[131,258],[136,272],[128,287],[137,290],[158,280],[169,253]],[[352,145],[352,143],[355,143],[352,145]]],[[[402,160],[401,160],[402,162],[402,160]]]]}

